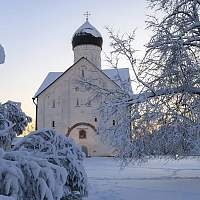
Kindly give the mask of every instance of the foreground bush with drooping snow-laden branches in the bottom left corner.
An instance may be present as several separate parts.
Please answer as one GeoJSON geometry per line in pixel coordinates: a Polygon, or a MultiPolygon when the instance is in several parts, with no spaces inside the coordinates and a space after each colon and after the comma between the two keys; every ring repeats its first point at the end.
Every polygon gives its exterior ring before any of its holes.
{"type": "Polygon", "coordinates": [[[56,200],[68,194],[67,171],[26,151],[0,153],[0,194],[16,200],[56,200]]]}

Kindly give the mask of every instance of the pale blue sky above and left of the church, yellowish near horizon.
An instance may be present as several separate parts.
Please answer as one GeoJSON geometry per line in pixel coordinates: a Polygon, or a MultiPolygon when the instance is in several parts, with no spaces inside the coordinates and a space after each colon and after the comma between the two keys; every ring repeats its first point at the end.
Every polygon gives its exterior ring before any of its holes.
{"type": "Polygon", "coordinates": [[[148,39],[146,6],[145,0],[0,0],[0,43],[6,51],[0,102],[20,101],[34,117],[32,96],[47,73],[73,64],[71,38],[85,11],[104,38],[103,51],[109,46],[105,26],[121,32],[137,28],[136,48],[142,49],[148,39]]]}

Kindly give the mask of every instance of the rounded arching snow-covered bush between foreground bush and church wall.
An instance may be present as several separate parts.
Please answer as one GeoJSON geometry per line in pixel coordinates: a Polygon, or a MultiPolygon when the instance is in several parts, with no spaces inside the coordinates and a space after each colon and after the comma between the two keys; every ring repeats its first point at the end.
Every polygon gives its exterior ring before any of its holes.
{"type": "Polygon", "coordinates": [[[68,195],[87,195],[87,176],[82,165],[84,154],[73,139],[55,130],[43,129],[22,138],[15,145],[14,151],[27,151],[49,163],[64,167],[67,172],[65,187],[68,195]]]}

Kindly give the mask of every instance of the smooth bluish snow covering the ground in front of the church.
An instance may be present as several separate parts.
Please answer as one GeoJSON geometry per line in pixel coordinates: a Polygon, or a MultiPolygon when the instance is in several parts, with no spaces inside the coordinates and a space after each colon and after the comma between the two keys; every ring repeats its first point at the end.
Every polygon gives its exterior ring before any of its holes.
{"type": "Polygon", "coordinates": [[[200,158],[151,160],[120,169],[112,158],[87,158],[89,196],[84,200],[199,200],[200,158]]]}

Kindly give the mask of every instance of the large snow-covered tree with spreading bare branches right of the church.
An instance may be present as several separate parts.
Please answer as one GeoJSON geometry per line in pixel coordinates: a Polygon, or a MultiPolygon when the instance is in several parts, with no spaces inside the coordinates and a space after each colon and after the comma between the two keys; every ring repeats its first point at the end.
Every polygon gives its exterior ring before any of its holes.
{"type": "Polygon", "coordinates": [[[124,95],[112,93],[116,98],[101,108],[102,118],[116,115],[119,106],[129,107],[131,116],[121,120],[124,124],[116,126],[114,131],[104,130],[102,134],[112,137],[111,143],[124,160],[199,154],[200,2],[148,2],[158,17],[152,16],[148,21],[154,35],[139,65],[132,45],[134,32],[120,36],[108,29],[113,48],[109,63],[117,68],[119,58],[127,59],[140,91],[129,97],[125,91],[124,95]]]}

